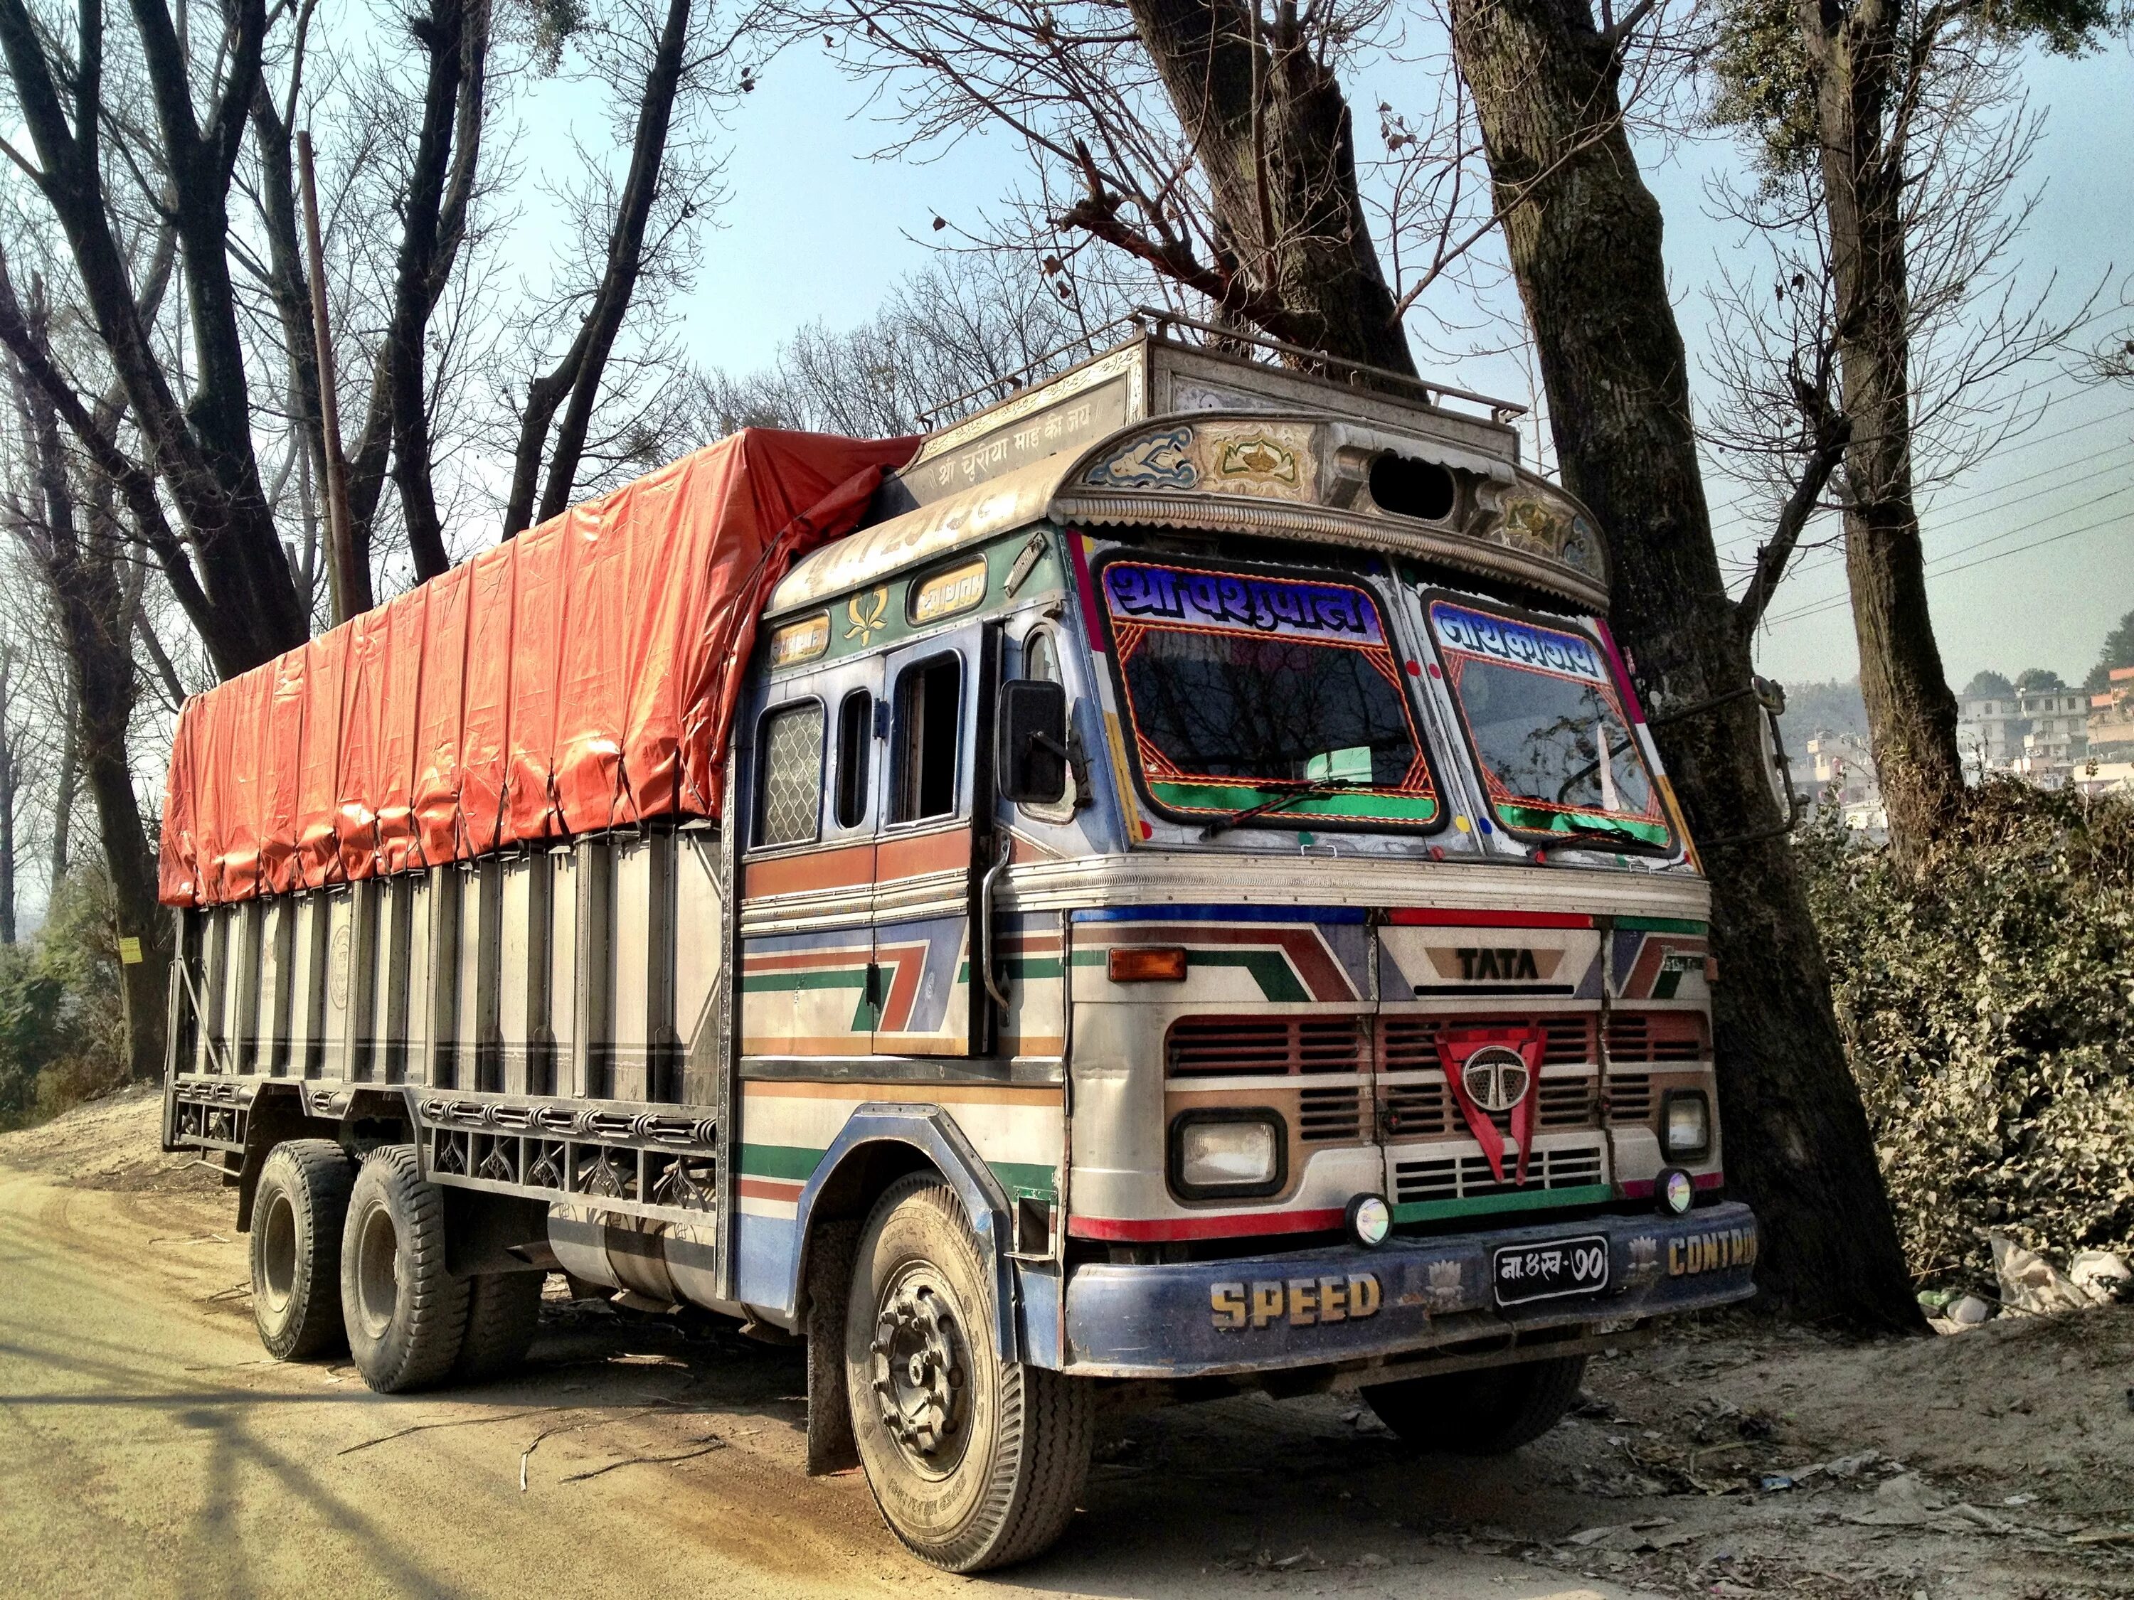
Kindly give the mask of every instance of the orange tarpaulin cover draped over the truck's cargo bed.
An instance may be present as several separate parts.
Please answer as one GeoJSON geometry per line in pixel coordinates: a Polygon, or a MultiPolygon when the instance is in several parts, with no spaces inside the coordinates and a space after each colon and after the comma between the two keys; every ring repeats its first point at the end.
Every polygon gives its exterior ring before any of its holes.
{"type": "Polygon", "coordinates": [[[915,448],[747,429],[194,695],[162,902],[717,817],[755,614],[915,448]]]}

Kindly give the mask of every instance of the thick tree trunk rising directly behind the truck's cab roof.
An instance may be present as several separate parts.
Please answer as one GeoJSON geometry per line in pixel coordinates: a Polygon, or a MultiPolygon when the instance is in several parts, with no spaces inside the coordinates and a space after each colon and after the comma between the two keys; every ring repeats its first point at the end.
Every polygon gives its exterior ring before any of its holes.
{"type": "Polygon", "coordinates": [[[1225,309],[1291,343],[1413,373],[1355,179],[1355,130],[1295,11],[1257,0],[1129,0],[1242,277],[1225,309]]]}

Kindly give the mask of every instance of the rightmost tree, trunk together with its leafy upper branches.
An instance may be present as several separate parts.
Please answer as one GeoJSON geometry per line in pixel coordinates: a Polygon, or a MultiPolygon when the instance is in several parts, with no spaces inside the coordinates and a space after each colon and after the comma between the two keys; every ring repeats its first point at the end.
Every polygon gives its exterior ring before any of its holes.
{"type": "MultiPolygon", "coordinates": [[[[1765,166],[1820,201],[1837,405],[1850,420],[1842,506],[1861,693],[1891,843],[1908,855],[1963,796],[1918,533],[1918,335],[1976,294],[1963,258],[1993,245],[1989,220],[1948,222],[1921,198],[1968,188],[1997,201],[1995,169],[2021,164],[2021,117],[2012,143],[1976,132],[2006,98],[1991,87],[2006,47],[2083,53],[2125,17],[2113,0],[1733,0],[1722,15],[1720,119],[1754,132],[1765,166]]],[[[2012,314],[2004,333],[2021,348],[2036,329],[2012,314]]],[[[1965,393],[1944,382],[1944,395],[1965,393]]]]}

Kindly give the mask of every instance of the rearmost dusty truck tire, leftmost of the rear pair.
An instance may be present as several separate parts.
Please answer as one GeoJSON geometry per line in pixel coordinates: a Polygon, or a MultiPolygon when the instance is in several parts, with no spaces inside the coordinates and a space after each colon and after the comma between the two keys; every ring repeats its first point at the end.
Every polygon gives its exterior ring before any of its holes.
{"type": "Polygon", "coordinates": [[[267,1152],[252,1195],[252,1321],[275,1361],[348,1348],[341,1327],[341,1225],[356,1163],[333,1139],[267,1152]]]}

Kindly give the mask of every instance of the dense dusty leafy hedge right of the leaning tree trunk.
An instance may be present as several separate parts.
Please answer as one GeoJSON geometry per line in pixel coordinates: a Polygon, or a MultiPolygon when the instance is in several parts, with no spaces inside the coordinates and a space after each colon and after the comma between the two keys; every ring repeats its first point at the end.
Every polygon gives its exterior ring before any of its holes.
{"type": "Polygon", "coordinates": [[[1985,1229],[2134,1248],[2134,802],[1989,781],[1918,875],[1799,849],[1921,1282],[1991,1284],[1985,1229]]]}

